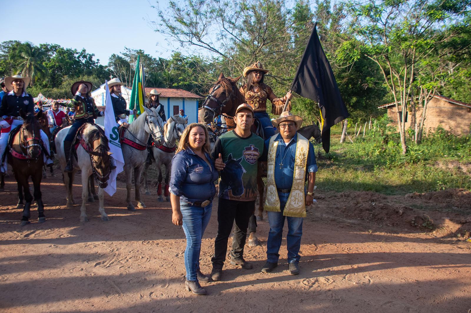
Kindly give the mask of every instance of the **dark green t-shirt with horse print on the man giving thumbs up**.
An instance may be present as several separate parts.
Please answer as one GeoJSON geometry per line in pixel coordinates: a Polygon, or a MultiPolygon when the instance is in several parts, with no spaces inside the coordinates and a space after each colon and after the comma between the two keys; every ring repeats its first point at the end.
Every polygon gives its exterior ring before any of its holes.
{"type": "Polygon", "coordinates": [[[247,138],[238,136],[234,131],[218,137],[212,150],[212,157],[219,153],[226,164],[220,172],[219,198],[253,201],[257,198],[258,161],[267,160],[263,139],[252,133],[247,138]]]}

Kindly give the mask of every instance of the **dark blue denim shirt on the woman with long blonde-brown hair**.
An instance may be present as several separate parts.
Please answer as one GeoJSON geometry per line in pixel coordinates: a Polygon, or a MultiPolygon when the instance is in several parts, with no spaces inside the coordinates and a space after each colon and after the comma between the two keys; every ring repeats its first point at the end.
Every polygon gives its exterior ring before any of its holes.
{"type": "Polygon", "coordinates": [[[214,181],[219,173],[208,153],[204,153],[211,166],[198,157],[191,148],[180,151],[172,159],[169,190],[181,201],[212,200],[216,194],[214,181]]]}

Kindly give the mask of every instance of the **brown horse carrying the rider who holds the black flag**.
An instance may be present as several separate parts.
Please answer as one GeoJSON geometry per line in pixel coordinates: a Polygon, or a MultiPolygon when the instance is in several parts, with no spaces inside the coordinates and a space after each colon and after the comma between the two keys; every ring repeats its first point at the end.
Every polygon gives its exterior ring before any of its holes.
{"type": "MultiPolygon", "coordinates": [[[[221,75],[218,81],[209,90],[209,95],[203,102],[202,108],[198,112],[198,119],[203,123],[213,122],[215,117],[221,114],[226,115],[226,127],[227,130],[235,128],[234,115],[237,107],[245,102],[244,95],[240,93],[237,88],[237,78],[224,77],[221,75]]],[[[255,128],[252,126],[252,132],[255,133],[255,128]]],[[[258,220],[263,219],[263,196],[264,196],[264,183],[262,177],[264,176],[263,164],[266,162],[259,162],[259,169],[257,173],[257,189],[259,192],[259,209],[256,214],[258,220]]],[[[265,165],[266,168],[266,165],[265,165]]],[[[266,174],[265,174],[266,176],[266,174]]],[[[247,242],[249,246],[256,246],[260,244],[260,241],[256,237],[255,233],[250,233],[249,240],[247,242]]]]}

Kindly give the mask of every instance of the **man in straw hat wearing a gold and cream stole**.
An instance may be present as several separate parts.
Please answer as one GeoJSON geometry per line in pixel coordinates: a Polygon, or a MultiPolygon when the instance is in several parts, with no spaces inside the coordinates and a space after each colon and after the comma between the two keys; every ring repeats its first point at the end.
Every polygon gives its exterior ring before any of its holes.
{"type": "Polygon", "coordinates": [[[262,272],[268,273],[278,266],[278,251],[283,237],[284,220],[288,220],[289,271],[299,274],[299,250],[301,246],[302,221],[306,217],[306,206],[313,203],[314,182],[317,164],[314,147],[297,133],[302,118],[284,111],[272,121],[279,134],[265,141],[268,147],[267,196],[265,211],[270,232],[267,240],[267,263],[262,272]],[[307,193],[305,183],[308,181],[307,193]]]}

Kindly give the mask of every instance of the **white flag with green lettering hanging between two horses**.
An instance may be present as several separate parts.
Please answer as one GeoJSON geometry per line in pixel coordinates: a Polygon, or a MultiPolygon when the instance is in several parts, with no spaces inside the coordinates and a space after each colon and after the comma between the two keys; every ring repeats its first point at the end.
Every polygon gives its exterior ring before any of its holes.
{"type": "Polygon", "coordinates": [[[116,192],[116,176],[121,173],[124,167],[124,158],[122,157],[121,144],[119,142],[118,123],[114,118],[113,102],[111,102],[110,89],[108,88],[108,81],[105,81],[105,135],[110,141],[110,152],[113,153],[111,157],[116,162],[116,168],[111,171],[110,178],[108,179],[108,186],[104,189],[108,195],[113,196],[116,192]]]}

